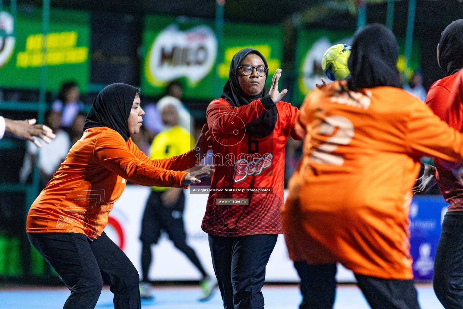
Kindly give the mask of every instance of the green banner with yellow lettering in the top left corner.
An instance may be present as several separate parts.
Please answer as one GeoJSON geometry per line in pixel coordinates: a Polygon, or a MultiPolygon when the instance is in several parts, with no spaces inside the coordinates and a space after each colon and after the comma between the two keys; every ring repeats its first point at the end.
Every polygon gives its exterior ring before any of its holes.
{"type": "Polygon", "coordinates": [[[52,9],[50,31],[42,35],[42,11],[0,13],[0,87],[39,88],[40,67],[44,64],[42,46],[46,42],[47,90],[59,90],[61,83],[74,80],[82,92],[87,90],[90,63],[90,14],[81,11],[52,9]]]}

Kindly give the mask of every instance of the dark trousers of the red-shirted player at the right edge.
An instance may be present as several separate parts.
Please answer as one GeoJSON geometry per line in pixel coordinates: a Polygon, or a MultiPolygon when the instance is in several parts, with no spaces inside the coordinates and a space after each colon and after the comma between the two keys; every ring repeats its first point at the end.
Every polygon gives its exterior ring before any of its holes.
{"type": "Polygon", "coordinates": [[[445,309],[463,308],[463,211],[444,216],[432,285],[445,309]]]}

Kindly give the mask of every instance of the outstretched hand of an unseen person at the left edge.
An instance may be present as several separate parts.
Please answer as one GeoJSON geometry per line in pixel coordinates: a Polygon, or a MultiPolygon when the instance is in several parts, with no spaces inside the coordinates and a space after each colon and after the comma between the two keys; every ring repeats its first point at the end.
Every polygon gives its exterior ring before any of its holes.
{"type": "Polygon", "coordinates": [[[36,125],[37,120],[10,120],[5,119],[6,131],[10,132],[19,139],[27,139],[33,142],[37,147],[42,147],[40,142],[33,137],[42,139],[45,143],[50,144],[50,139],[55,139],[53,131],[44,125],[36,125]]]}

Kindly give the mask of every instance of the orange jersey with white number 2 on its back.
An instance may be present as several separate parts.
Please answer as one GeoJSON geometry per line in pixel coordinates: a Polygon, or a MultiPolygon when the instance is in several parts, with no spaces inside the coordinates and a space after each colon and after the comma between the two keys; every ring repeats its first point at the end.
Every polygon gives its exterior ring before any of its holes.
{"type": "Polygon", "coordinates": [[[364,94],[333,82],[307,96],[303,157],[283,231],[291,259],[411,279],[408,211],[419,158],[463,162],[463,137],[402,89],[364,94]]]}

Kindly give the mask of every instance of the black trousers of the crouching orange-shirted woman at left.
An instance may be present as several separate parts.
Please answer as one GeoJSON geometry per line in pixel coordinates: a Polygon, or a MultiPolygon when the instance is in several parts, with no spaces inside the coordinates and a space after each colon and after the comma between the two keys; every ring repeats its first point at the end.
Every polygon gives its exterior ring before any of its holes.
{"type": "Polygon", "coordinates": [[[29,241],[71,290],[63,309],[93,309],[103,282],[115,309],[140,309],[138,272],[124,252],[102,233],[91,241],[80,233],[27,233],[29,241]]]}

